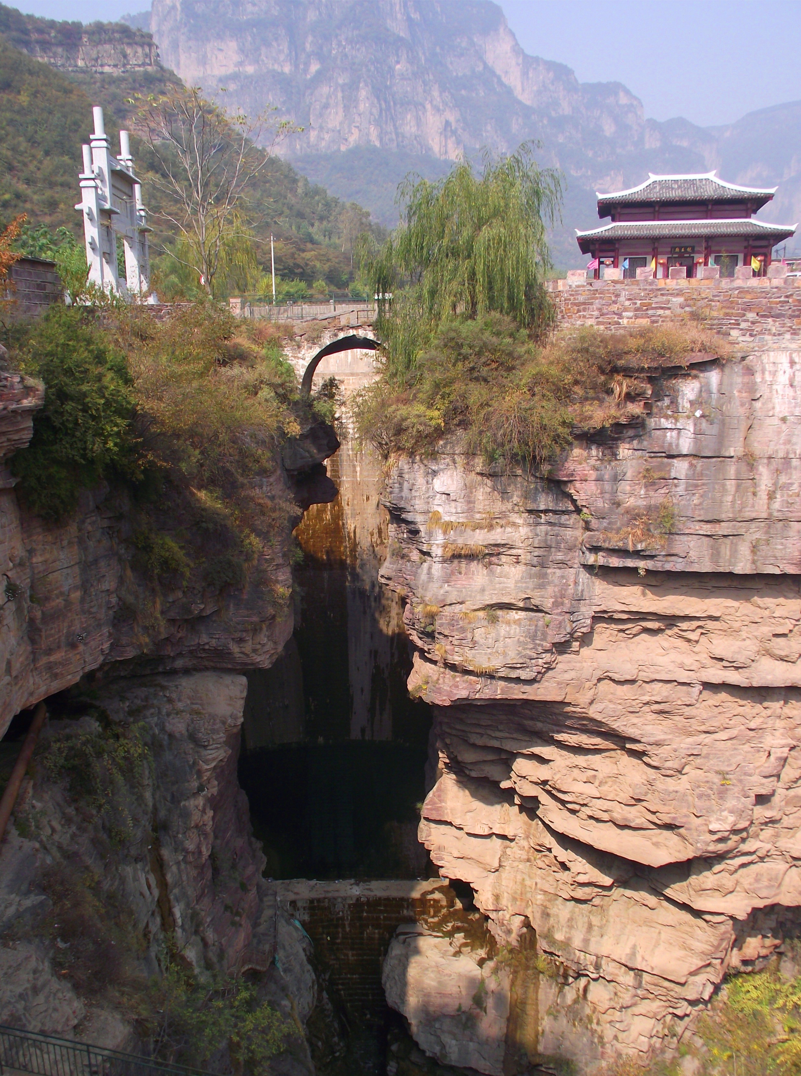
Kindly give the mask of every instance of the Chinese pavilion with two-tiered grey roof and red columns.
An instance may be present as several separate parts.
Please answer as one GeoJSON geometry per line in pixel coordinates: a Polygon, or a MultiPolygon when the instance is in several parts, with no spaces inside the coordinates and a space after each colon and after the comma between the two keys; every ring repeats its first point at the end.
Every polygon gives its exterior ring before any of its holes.
{"type": "Polygon", "coordinates": [[[718,275],[702,273],[702,266],[717,267],[720,277],[734,277],[739,267],[764,275],[773,247],[796,230],[795,224],[754,218],[775,192],[726,183],[714,172],[651,173],[629,190],[599,194],[598,215],[612,223],[577,230],[576,239],[595,277],[605,267],[628,278],[684,275],[680,269],[671,273],[672,267],[684,267],[687,277],[718,275]]]}

